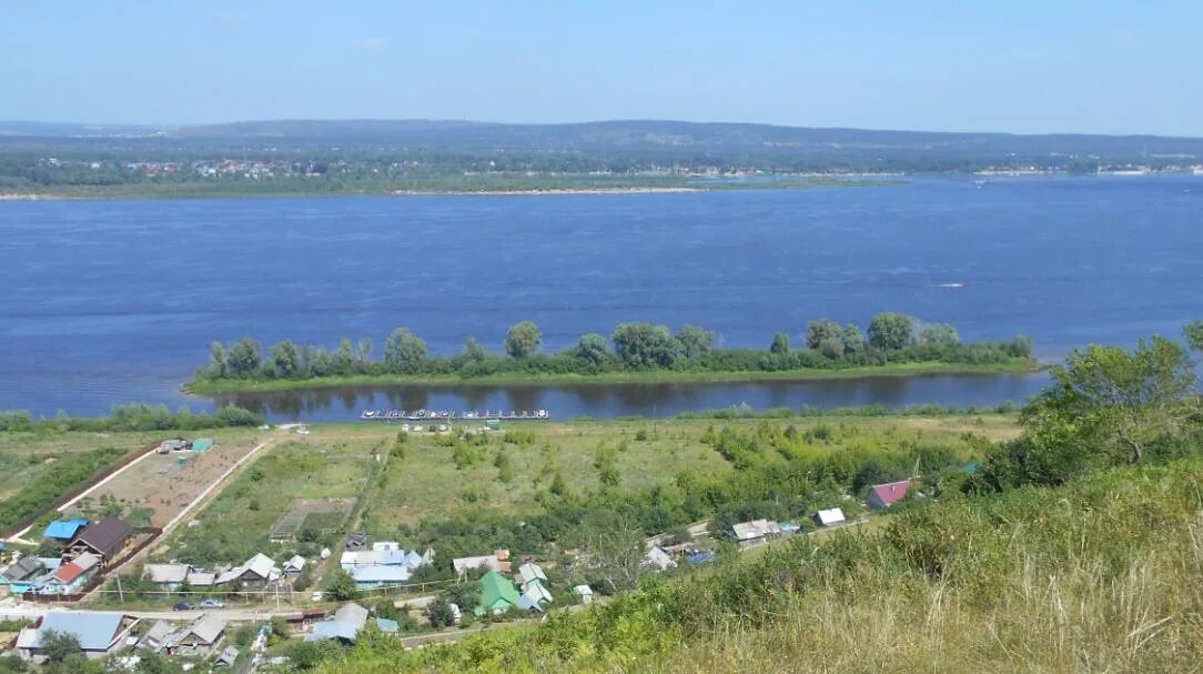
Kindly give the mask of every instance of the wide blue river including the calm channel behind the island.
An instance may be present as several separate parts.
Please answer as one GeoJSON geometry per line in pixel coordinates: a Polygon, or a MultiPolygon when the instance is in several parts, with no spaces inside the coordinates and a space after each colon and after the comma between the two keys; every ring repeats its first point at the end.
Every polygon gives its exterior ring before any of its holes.
{"type": "MultiPolygon", "coordinates": [[[[212,407],[179,384],[214,339],[379,351],[545,347],[624,320],[766,345],[830,317],[948,321],[965,339],[1133,344],[1203,318],[1203,178],[920,178],[903,187],[571,196],[0,202],[0,409],[212,407]]],[[[277,419],[365,407],[683,409],[1023,401],[1044,376],[771,384],[338,389],[238,402],[277,419]]]]}

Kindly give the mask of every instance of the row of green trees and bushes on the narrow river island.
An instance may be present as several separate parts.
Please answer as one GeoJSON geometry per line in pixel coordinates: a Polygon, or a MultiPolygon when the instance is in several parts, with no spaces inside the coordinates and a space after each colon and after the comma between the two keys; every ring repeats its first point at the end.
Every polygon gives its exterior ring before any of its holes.
{"type": "Polygon", "coordinates": [[[214,342],[209,363],[198,379],[310,379],[349,376],[458,376],[487,377],[500,373],[604,374],[618,372],[775,372],[884,366],[900,362],[949,362],[965,365],[1006,363],[1030,359],[1032,342],[1015,337],[1007,342],[962,343],[948,324],[923,323],[896,312],[875,315],[865,332],[854,324],[830,319],[811,321],[801,335],[802,348],[778,332],[766,349],[723,349],[717,335],[686,325],[672,332],[665,325],[623,323],[606,337],[582,335],[576,344],[544,353],[543,333],[533,321],[509,329],[504,354],[488,351],[475,338],[451,356],[433,356],[426,341],[408,327],[398,327],[384,343],[384,354],[373,357],[369,338],[357,343],[343,338],[328,351],[322,347],[283,339],[265,349],[251,337],[233,343],[214,342]]]}

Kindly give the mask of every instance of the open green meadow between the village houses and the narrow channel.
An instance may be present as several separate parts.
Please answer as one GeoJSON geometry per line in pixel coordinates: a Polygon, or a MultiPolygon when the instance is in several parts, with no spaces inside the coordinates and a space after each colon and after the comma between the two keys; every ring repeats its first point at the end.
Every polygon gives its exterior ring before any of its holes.
{"type": "MultiPolygon", "coordinates": [[[[832,428],[825,450],[935,444],[968,447],[971,438],[1003,439],[1018,434],[1013,416],[864,416],[774,420],[805,432],[820,425],[832,428]]],[[[706,473],[731,471],[730,463],[701,441],[711,426],[753,428],[755,420],[615,420],[510,424],[470,445],[473,456],[440,444],[432,433],[407,434],[402,455],[389,459],[387,471],[363,492],[363,527],[373,537],[391,538],[402,525],[458,513],[533,513],[541,509],[538,493],[552,473],[569,490],[585,493],[600,486],[594,466],[599,447],[612,450],[618,490],[669,484],[685,468],[706,473]],[[504,442],[506,430],[531,431],[532,442],[504,442]],[[644,438],[644,439],[639,439],[644,438]],[[511,477],[499,479],[498,453],[508,456],[511,477]]],[[[294,498],[356,497],[375,463],[373,454],[392,451],[399,426],[375,422],[310,425],[312,434],[290,441],[256,459],[251,471],[231,484],[180,534],[185,539],[226,540],[225,548],[245,549],[265,543],[267,530],[294,498]],[[255,479],[256,472],[262,477],[255,479]],[[244,545],[245,543],[245,545],[244,545]]],[[[180,540],[168,542],[160,556],[178,554],[180,540]]],[[[230,560],[235,561],[235,560],[230,560]]]]}

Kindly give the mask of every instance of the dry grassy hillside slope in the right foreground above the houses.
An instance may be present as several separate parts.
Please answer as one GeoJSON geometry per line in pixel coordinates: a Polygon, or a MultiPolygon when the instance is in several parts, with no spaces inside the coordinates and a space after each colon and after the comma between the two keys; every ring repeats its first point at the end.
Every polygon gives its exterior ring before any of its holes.
{"type": "Polygon", "coordinates": [[[1199,484],[1196,456],[953,497],[879,533],[798,538],[535,628],[409,652],[365,639],[319,670],[1193,670],[1199,484]]]}

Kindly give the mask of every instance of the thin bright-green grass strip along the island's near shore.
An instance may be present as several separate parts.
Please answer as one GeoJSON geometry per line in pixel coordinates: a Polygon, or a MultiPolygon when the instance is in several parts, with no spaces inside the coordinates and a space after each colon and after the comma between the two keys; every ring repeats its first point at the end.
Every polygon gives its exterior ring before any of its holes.
{"type": "Polygon", "coordinates": [[[778,372],[611,372],[603,374],[528,374],[508,372],[487,377],[463,378],[449,376],[366,376],[318,377],[310,379],[195,379],[184,389],[198,396],[211,396],[236,391],[288,391],[327,386],[379,386],[395,384],[422,385],[574,385],[574,384],[658,384],[672,382],[761,382],[761,380],[811,380],[849,379],[859,377],[913,377],[923,374],[998,374],[1037,372],[1039,367],[1027,359],[1014,359],[1006,363],[966,365],[946,362],[902,362],[872,367],[847,367],[842,369],[787,369],[778,372]]]}

